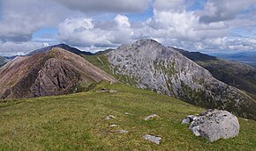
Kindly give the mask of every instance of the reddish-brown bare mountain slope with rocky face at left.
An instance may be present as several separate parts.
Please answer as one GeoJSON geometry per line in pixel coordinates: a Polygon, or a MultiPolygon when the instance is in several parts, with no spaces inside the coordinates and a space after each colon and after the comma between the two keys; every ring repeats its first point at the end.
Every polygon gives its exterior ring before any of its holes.
{"type": "Polygon", "coordinates": [[[0,97],[40,97],[77,91],[115,78],[77,54],[61,48],[19,56],[0,68],[0,97]]]}

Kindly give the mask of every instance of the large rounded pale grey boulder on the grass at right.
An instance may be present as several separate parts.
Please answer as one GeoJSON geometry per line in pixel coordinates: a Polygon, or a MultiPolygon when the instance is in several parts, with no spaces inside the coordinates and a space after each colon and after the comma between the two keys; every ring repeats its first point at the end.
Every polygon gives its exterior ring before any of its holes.
{"type": "Polygon", "coordinates": [[[196,136],[210,141],[233,138],[239,134],[240,127],[235,115],[220,110],[208,110],[199,117],[188,116],[182,122],[185,123],[191,123],[189,129],[196,136]]]}

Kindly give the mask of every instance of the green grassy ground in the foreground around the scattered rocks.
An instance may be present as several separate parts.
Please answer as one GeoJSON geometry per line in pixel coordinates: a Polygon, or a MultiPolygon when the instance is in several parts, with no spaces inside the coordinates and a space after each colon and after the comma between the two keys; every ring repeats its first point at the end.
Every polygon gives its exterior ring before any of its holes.
{"type": "Polygon", "coordinates": [[[202,111],[121,83],[100,83],[94,90],[66,96],[10,100],[0,103],[0,150],[255,150],[255,121],[239,119],[236,138],[213,143],[180,124],[202,111]],[[96,92],[102,87],[117,93],[96,92]],[[154,113],[161,118],[144,120],[154,113]],[[109,114],[116,119],[104,120],[109,114]],[[144,140],[144,134],[161,136],[161,144],[144,140]]]}

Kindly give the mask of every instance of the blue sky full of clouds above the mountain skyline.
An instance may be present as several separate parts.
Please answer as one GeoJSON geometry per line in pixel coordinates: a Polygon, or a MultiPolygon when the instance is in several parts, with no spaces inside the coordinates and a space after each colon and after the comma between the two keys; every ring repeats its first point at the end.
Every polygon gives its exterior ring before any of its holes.
{"type": "Polygon", "coordinates": [[[256,0],[0,0],[0,55],[140,39],[203,53],[256,52],[256,0]]]}

